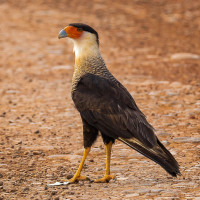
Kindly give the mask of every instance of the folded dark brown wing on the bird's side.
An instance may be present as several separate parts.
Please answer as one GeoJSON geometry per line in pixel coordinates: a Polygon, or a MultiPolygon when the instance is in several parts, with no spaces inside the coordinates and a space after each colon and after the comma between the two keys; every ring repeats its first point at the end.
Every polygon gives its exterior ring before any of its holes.
{"type": "Polygon", "coordinates": [[[104,134],[115,139],[135,137],[148,147],[156,145],[152,126],[119,82],[86,74],[72,98],[83,119],[104,134]]]}

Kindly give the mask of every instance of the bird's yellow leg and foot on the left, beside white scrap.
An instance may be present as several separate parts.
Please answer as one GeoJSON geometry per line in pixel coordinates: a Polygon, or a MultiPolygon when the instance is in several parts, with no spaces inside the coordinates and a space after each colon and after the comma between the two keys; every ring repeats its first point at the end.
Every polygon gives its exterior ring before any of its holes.
{"type": "Polygon", "coordinates": [[[81,174],[81,170],[83,168],[85,159],[86,159],[88,153],[90,152],[90,149],[91,149],[90,147],[87,147],[87,148],[84,149],[83,158],[81,160],[81,163],[78,167],[78,170],[74,174],[73,178],[71,178],[69,180],[70,183],[74,183],[74,182],[79,181],[79,180],[87,180],[88,179],[86,176],[81,176],[80,174],[81,174]]]}

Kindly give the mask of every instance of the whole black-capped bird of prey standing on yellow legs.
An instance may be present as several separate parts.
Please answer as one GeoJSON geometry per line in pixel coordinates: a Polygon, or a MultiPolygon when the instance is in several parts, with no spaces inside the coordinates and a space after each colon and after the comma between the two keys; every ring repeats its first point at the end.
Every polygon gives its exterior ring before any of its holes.
{"type": "Polygon", "coordinates": [[[71,96],[83,124],[84,152],[80,165],[69,180],[87,180],[81,171],[91,146],[100,134],[106,146],[106,169],[96,183],[115,179],[111,175],[111,150],[119,140],[164,168],[170,175],[180,175],[179,164],[155,134],[155,129],[138,108],[128,90],[111,74],[99,49],[98,33],[89,25],[71,23],[58,38],[73,41],[75,66],[71,96]]]}

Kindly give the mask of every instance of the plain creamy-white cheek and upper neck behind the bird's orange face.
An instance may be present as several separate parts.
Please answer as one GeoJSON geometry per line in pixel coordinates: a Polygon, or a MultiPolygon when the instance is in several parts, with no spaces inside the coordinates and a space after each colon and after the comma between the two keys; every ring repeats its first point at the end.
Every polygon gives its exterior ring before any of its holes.
{"type": "Polygon", "coordinates": [[[75,59],[83,59],[88,56],[100,56],[96,35],[84,32],[79,39],[73,39],[75,59]]]}

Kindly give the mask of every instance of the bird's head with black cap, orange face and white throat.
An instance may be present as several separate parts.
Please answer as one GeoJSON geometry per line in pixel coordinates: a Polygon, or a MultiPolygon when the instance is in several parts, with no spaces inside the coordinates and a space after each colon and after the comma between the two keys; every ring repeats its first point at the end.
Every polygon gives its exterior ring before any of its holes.
{"type": "Polygon", "coordinates": [[[74,51],[76,56],[80,51],[87,51],[88,48],[98,48],[98,33],[90,26],[81,23],[73,23],[62,29],[58,38],[69,37],[74,42],[74,51]]]}

